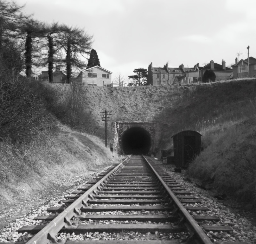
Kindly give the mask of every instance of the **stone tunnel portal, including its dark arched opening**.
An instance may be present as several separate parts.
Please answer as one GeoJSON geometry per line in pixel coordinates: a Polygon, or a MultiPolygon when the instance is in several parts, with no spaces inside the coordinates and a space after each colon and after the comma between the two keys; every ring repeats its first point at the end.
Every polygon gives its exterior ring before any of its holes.
{"type": "Polygon", "coordinates": [[[113,148],[118,154],[150,155],[154,146],[155,122],[114,122],[113,148]],[[140,149],[141,144],[143,145],[140,149]]]}

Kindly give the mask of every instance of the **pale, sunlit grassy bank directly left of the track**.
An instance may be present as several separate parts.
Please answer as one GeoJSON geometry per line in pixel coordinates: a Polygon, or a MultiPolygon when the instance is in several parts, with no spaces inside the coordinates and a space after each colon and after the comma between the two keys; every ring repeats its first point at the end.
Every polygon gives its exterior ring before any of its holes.
{"type": "Polygon", "coordinates": [[[110,153],[99,138],[60,123],[55,136],[47,139],[45,143],[35,139],[24,146],[25,150],[0,144],[1,163],[9,167],[6,180],[0,185],[0,215],[21,207],[37,192],[65,187],[74,179],[88,177],[118,161],[118,156],[110,153]]]}

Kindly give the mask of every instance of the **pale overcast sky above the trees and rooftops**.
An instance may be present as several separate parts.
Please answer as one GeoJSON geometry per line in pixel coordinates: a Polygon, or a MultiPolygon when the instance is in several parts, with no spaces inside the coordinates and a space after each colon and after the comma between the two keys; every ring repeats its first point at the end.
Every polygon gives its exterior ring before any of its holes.
{"type": "Polygon", "coordinates": [[[47,23],[93,35],[101,67],[128,79],[135,68],[226,66],[256,58],[255,0],[16,0],[47,23]]]}

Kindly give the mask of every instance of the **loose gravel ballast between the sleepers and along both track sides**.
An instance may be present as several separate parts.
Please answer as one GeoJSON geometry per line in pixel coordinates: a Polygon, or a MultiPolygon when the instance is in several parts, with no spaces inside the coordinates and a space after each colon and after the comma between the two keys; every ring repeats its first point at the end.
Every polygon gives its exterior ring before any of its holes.
{"type": "MultiPolygon", "coordinates": [[[[157,161],[159,163],[159,161],[157,161]]],[[[216,215],[220,217],[220,221],[215,223],[212,221],[200,221],[199,225],[226,225],[231,226],[233,231],[230,233],[226,232],[206,232],[213,243],[221,243],[223,241],[243,241],[246,243],[254,244],[256,243],[256,227],[253,224],[253,219],[246,217],[246,213],[239,212],[238,210],[231,208],[227,202],[221,202],[215,199],[209,191],[205,191],[201,188],[196,187],[193,182],[188,182],[185,180],[183,173],[174,173],[173,167],[169,165],[160,164],[165,172],[168,172],[171,176],[177,180],[179,184],[184,186],[186,190],[192,192],[193,196],[201,199],[202,203],[187,204],[192,206],[204,206],[208,207],[210,210],[207,212],[196,211],[191,212],[192,215],[216,215]],[[239,212],[239,213],[238,213],[239,212]]],[[[0,232],[0,242],[15,242],[15,241],[27,241],[33,235],[28,233],[18,233],[17,230],[24,225],[40,225],[46,223],[46,221],[34,220],[34,217],[39,215],[49,215],[47,209],[50,207],[62,206],[61,200],[64,199],[65,195],[70,194],[73,190],[83,185],[76,185],[73,189],[63,192],[59,197],[51,198],[41,204],[39,207],[34,206],[33,209],[27,214],[16,218],[11,223],[8,223],[0,232]]],[[[139,206],[139,204],[131,204],[127,206],[139,206]]],[[[147,206],[160,206],[161,204],[148,204],[147,206]]],[[[109,206],[109,204],[89,204],[89,206],[109,206]]],[[[111,204],[111,206],[123,206],[121,204],[111,204]]],[[[107,211],[107,212],[86,212],[85,214],[170,214],[170,212],[165,211],[107,211]]],[[[2,216],[3,217],[3,216],[2,216]]],[[[8,217],[8,216],[6,216],[8,217]]],[[[80,221],[79,224],[170,224],[169,222],[164,223],[154,223],[150,221],[140,222],[140,221],[116,221],[116,220],[106,220],[106,221],[80,221]]],[[[186,240],[188,233],[139,233],[139,232],[122,232],[122,233],[86,233],[75,235],[74,233],[65,234],[59,233],[60,240],[186,240]]]]}

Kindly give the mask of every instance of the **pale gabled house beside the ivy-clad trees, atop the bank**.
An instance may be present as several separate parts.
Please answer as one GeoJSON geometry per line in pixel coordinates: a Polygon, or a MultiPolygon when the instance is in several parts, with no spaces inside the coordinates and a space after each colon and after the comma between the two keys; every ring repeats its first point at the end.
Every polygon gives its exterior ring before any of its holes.
{"type": "Polygon", "coordinates": [[[85,86],[112,86],[112,72],[96,65],[81,71],[76,80],[85,86]]]}

